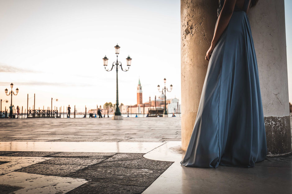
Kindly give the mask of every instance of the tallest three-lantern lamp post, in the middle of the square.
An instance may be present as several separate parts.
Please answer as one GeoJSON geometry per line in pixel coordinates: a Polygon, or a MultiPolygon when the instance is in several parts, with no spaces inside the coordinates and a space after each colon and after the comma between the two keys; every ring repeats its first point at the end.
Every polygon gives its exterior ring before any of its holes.
{"type": "Polygon", "coordinates": [[[120,108],[119,108],[119,92],[118,92],[118,69],[119,67],[121,67],[121,70],[122,71],[129,71],[129,68],[131,66],[131,58],[130,56],[128,56],[126,58],[126,61],[127,61],[127,69],[123,69],[122,67],[122,63],[118,61],[118,55],[120,53],[120,46],[119,45],[116,45],[115,46],[115,51],[116,51],[116,62],[113,62],[112,63],[112,68],[111,69],[107,69],[107,62],[108,62],[108,58],[107,56],[105,56],[103,58],[103,66],[104,66],[104,69],[106,71],[112,71],[113,67],[116,67],[116,111],[115,111],[115,115],[112,117],[112,119],[114,120],[120,120],[120,119],[123,119],[123,117],[121,116],[121,111],[120,111],[120,108]]]}

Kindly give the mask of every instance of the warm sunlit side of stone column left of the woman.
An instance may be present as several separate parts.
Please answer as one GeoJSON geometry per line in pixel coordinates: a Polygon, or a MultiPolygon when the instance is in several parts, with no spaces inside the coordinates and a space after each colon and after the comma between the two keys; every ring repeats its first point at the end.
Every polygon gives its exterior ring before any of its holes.
{"type": "Polygon", "coordinates": [[[181,141],[186,150],[207,73],[205,60],[217,20],[218,1],[181,0],[181,141]]]}

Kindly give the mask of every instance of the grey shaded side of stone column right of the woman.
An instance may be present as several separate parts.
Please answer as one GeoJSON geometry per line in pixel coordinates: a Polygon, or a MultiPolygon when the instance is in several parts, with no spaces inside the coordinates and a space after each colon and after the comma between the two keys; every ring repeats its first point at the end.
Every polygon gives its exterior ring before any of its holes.
{"type": "Polygon", "coordinates": [[[291,150],[284,0],[258,1],[249,12],[257,54],[268,155],[291,150]]]}

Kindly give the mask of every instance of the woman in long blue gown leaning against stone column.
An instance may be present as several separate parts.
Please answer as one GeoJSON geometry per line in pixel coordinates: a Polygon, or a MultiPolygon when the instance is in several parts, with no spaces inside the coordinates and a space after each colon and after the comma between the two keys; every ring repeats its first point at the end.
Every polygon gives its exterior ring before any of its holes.
{"type": "Polygon", "coordinates": [[[267,155],[258,64],[246,12],[257,0],[220,0],[188,167],[253,167],[267,155]]]}

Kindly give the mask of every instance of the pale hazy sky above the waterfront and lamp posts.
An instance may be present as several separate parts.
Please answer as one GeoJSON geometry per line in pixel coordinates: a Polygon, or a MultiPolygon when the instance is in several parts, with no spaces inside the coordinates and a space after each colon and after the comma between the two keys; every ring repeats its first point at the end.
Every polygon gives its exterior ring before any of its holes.
{"type": "MultiPolygon", "coordinates": [[[[285,0],[289,99],[292,102],[292,1],[285,0]]],[[[0,98],[9,106],[41,108],[76,105],[78,111],[116,101],[116,72],[104,70],[121,46],[119,102],[137,103],[140,78],[143,102],[159,96],[157,85],[173,85],[167,98],[180,99],[180,0],[0,0],[0,98]],[[2,92],[1,92],[2,91],[2,92]]],[[[4,109],[4,108],[3,108],[4,109]]]]}

